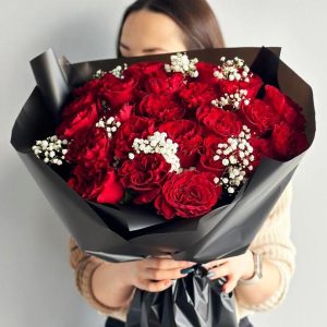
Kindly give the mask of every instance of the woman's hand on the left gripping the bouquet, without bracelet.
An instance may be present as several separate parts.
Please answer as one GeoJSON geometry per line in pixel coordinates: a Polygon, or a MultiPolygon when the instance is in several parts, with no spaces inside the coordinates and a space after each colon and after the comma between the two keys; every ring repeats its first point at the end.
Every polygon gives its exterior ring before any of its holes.
{"type": "Polygon", "coordinates": [[[128,264],[126,278],[134,287],[148,292],[168,289],[172,279],[187,276],[193,271],[192,266],[196,265],[193,262],[174,261],[171,256],[148,257],[128,264]]]}

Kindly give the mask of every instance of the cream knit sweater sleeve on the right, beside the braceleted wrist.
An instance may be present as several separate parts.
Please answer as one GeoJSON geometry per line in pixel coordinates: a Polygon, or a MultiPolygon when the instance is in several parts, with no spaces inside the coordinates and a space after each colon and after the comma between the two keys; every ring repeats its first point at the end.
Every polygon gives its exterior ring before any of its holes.
{"type": "Polygon", "coordinates": [[[280,276],[279,286],[269,299],[257,305],[242,303],[237,298],[240,317],[254,312],[272,310],[282,303],[288,293],[295,266],[295,247],[290,239],[291,196],[292,189],[289,184],[250,246],[253,252],[262,253],[266,261],[277,267],[280,276]]]}

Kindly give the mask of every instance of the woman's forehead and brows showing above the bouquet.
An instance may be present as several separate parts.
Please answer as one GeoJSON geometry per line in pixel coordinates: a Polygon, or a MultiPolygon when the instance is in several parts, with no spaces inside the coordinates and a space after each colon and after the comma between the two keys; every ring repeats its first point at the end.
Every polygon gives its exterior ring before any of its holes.
{"type": "Polygon", "coordinates": [[[168,15],[148,10],[131,13],[124,22],[120,51],[123,57],[186,51],[183,32],[168,15]]]}

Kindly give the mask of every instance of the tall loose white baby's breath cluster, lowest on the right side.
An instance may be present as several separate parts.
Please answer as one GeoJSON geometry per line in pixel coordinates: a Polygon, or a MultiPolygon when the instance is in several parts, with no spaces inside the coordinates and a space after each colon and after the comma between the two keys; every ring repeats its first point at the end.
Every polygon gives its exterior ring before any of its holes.
{"type": "Polygon", "coordinates": [[[253,147],[249,143],[251,130],[243,125],[238,137],[229,137],[227,143],[219,143],[214,160],[221,160],[226,170],[222,177],[215,178],[214,182],[227,189],[232,194],[245,181],[246,172],[253,170],[253,147]]]}

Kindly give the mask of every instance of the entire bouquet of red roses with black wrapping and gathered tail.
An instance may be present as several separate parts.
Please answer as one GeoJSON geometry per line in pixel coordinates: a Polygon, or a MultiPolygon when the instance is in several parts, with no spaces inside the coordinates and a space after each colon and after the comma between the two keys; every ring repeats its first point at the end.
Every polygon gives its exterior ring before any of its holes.
{"type": "MultiPolygon", "coordinates": [[[[47,51],[32,61],[38,87],[12,144],[89,254],[204,263],[243,253],[314,138],[311,88],[278,55],[211,49],[60,64],[47,51]]],[[[234,326],[232,294],[204,276],[199,266],[173,290],[136,292],[128,326],[141,316],[148,326],[180,326],[181,316],[234,326]]]]}

